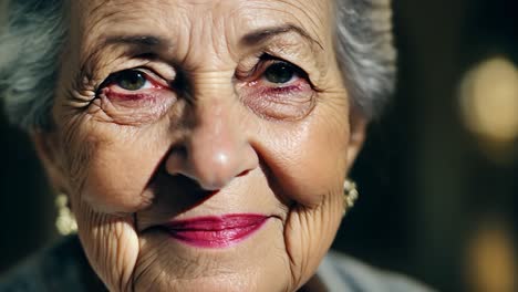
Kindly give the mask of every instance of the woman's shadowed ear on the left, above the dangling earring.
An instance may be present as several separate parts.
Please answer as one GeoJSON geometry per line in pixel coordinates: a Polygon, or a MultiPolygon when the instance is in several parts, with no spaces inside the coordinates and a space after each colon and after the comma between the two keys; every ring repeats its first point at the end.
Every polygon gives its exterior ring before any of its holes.
{"type": "Polygon", "coordinates": [[[52,187],[58,192],[68,194],[58,135],[49,132],[33,131],[30,133],[30,136],[52,187]]]}

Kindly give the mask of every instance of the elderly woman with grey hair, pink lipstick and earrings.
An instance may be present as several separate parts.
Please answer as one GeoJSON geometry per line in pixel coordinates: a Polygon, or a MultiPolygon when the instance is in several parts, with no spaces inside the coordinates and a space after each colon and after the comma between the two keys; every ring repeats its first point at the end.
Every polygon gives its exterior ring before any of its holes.
{"type": "Polygon", "coordinates": [[[425,290],[329,252],[356,195],[348,171],[393,87],[388,0],[8,11],[4,107],[77,237],[0,290],[425,290]]]}

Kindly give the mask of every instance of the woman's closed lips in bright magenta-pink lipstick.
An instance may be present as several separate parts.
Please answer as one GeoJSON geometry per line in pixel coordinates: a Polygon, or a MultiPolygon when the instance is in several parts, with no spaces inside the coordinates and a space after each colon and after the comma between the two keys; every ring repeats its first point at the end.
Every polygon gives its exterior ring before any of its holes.
{"type": "Polygon", "coordinates": [[[269,217],[256,213],[196,217],[164,227],[174,239],[200,248],[226,248],[258,231],[269,217]]]}

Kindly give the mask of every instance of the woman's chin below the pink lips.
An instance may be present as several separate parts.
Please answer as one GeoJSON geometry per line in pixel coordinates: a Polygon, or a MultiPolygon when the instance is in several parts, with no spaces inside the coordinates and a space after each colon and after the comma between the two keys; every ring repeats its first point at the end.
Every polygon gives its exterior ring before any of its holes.
{"type": "Polygon", "coordinates": [[[289,291],[290,264],[277,220],[228,247],[187,244],[167,232],[141,237],[136,291],[289,291]]]}

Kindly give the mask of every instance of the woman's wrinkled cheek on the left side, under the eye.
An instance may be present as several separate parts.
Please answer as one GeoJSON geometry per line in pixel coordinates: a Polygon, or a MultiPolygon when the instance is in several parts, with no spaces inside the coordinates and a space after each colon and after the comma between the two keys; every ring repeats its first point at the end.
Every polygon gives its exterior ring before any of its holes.
{"type": "Polygon", "coordinates": [[[99,139],[90,149],[84,182],[77,191],[97,212],[131,213],[147,207],[152,197],[146,186],[167,148],[156,136],[138,133],[93,133],[99,139]],[[149,137],[147,137],[149,136],[149,137]]]}

